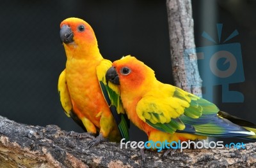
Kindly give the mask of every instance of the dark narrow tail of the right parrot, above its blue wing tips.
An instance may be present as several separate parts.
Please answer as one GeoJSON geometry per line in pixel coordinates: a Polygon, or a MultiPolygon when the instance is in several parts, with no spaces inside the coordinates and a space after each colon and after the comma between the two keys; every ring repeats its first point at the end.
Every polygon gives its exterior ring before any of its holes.
{"type": "MultiPolygon", "coordinates": [[[[224,111],[219,111],[218,116],[220,116],[221,118],[226,118],[227,120],[230,120],[230,122],[236,123],[236,125],[239,125],[239,126],[243,127],[244,129],[250,130],[250,131],[252,131],[256,134],[256,125],[255,125],[255,123],[248,122],[248,121],[244,120],[243,118],[239,118],[237,116],[230,115],[229,113],[224,112],[224,111]]],[[[245,137],[245,138],[246,139],[256,139],[256,135],[255,136],[248,136],[248,137],[245,137]]]]}

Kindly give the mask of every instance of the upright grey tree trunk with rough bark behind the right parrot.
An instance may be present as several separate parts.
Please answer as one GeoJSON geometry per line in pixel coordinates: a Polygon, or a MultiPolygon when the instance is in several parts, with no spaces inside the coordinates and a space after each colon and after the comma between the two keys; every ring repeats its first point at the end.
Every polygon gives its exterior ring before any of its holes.
{"type": "Polygon", "coordinates": [[[175,85],[202,97],[196,62],[191,0],[167,0],[172,73],[175,85]]]}

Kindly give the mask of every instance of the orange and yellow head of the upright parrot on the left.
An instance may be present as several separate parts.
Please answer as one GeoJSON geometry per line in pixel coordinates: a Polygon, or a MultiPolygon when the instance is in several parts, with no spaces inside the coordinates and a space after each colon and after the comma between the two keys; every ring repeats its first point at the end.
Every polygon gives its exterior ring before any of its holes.
{"type": "Polygon", "coordinates": [[[66,52],[79,50],[86,53],[98,48],[92,27],[80,18],[67,18],[61,22],[60,39],[66,52]]]}

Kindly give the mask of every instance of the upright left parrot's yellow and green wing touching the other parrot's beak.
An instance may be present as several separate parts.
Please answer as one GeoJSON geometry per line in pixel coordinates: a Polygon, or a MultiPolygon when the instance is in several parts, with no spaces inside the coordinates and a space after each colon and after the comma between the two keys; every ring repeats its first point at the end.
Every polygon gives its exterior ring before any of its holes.
{"type": "Polygon", "coordinates": [[[122,105],[119,88],[112,83],[108,83],[107,85],[106,82],[106,72],[111,66],[111,61],[102,60],[99,66],[96,67],[97,77],[104,99],[108,103],[109,109],[115,118],[120,134],[125,138],[125,141],[129,141],[129,120],[122,105]]]}

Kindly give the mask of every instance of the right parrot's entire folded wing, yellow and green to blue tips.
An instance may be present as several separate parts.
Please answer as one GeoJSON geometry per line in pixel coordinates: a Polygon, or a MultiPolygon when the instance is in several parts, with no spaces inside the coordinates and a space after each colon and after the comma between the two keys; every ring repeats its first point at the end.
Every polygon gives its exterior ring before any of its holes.
{"type": "Polygon", "coordinates": [[[200,136],[255,136],[217,115],[215,104],[180,88],[163,84],[154,94],[147,94],[136,107],[141,120],[151,127],[173,134],[182,132],[200,136]],[[159,97],[156,97],[156,92],[159,97]],[[167,95],[166,95],[167,94],[167,95]]]}

